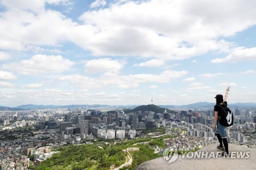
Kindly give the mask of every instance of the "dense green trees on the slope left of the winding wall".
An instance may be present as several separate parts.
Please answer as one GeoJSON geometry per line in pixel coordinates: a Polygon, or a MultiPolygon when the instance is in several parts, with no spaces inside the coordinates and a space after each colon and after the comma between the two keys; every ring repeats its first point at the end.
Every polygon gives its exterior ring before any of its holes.
{"type": "Polygon", "coordinates": [[[109,169],[111,165],[119,166],[125,162],[122,146],[111,145],[106,149],[96,144],[70,145],[58,149],[60,153],[43,161],[39,166],[30,169],[109,169]]]}

